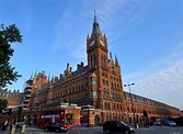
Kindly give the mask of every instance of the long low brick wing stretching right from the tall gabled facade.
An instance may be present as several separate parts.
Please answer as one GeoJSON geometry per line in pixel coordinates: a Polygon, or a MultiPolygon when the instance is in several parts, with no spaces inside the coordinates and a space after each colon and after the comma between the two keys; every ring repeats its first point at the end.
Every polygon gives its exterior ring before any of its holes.
{"type": "Polygon", "coordinates": [[[158,102],[152,99],[148,99],[145,97],[140,97],[137,94],[131,94],[133,98],[133,104],[130,100],[129,92],[124,91],[125,97],[125,122],[131,123],[134,113],[135,118],[138,116],[138,122],[142,123],[145,114],[147,113],[147,116],[149,120],[156,120],[156,119],[170,119],[170,118],[179,118],[181,112],[180,109],[168,105],[162,102],[158,102]],[[134,109],[134,113],[133,113],[134,109]]]}

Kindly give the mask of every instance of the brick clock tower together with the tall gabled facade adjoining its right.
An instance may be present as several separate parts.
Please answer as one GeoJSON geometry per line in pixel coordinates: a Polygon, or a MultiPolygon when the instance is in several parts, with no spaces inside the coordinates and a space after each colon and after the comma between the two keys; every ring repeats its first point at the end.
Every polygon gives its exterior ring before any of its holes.
{"type": "Polygon", "coordinates": [[[103,121],[123,120],[121,67],[117,57],[113,60],[111,53],[108,58],[107,52],[106,36],[101,33],[94,13],[92,33],[87,36],[89,104],[101,109],[103,121]]]}

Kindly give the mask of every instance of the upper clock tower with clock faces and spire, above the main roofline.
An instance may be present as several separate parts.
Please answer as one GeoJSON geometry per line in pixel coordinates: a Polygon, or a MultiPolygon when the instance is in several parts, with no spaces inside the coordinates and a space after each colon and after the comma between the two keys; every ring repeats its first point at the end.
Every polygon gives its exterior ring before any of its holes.
{"type": "Polygon", "coordinates": [[[92,33],[87,37],[87,53],[89,70],[107,67],[107,41],[100,31],[95,14],[92,33]]]}

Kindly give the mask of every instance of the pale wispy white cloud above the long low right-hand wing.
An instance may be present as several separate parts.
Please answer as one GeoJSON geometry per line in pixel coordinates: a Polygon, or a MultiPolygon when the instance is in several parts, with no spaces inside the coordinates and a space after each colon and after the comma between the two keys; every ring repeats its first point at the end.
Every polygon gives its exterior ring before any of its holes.
{"type": "MultiPolygon", "coordinates": [[[[135,82],[133,92],[183,109],[183,44],[172,48],[172,54],[151,67],[129,76],[124,81],[135,82]]],[[[124,89],[127,91],[127,89],[124,89]]]]}

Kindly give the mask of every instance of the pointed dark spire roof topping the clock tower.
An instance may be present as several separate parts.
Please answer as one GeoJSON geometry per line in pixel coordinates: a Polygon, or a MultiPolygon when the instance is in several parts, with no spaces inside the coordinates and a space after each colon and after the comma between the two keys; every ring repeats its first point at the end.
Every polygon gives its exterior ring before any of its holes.
{"type": "Polygon", "coordinates": [[[92,30],[91,36],[94,37],[94,36],[98,36],[100,34],[101,34],[101,31],[100,31],[96,15],[95,15],[95,11],[94,11],[93,30],[92,30]]]}

